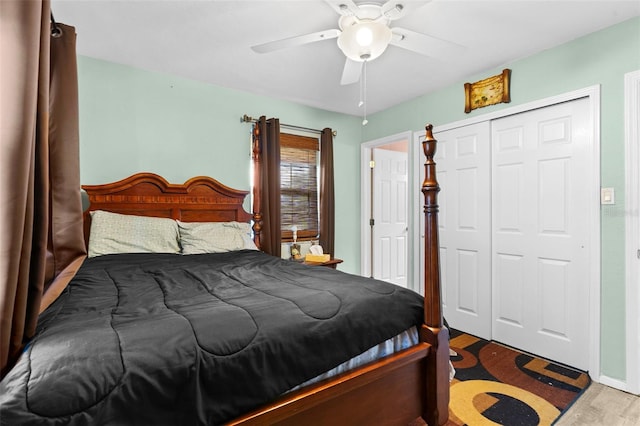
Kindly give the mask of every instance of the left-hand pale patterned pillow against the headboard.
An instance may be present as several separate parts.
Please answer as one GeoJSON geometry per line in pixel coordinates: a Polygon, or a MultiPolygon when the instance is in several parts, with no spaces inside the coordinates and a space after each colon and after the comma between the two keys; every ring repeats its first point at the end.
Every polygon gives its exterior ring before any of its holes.
{"type": "Polygon", "coordinates": [[[173,219],[91,212],[89,257],[116,253],[180,253],[173,219]]]}

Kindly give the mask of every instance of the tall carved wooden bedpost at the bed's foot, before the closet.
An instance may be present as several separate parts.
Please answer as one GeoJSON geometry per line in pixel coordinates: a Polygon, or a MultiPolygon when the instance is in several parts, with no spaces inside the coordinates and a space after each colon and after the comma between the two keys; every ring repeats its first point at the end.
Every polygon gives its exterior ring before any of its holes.
{"type": "Polygon", "coordinates": [[[436,163],[433,156],[436,152],[436,140],[432,133],[433,126],[427,125],[426,139],[422,149],[427,157],[424,164],[425,178],[422,183],[424,194],[424,227],[425,227],[425,276],[424,324],[421,329],[422,340],[432,345],[429,353],[427,371],[427,389],[430,412],[423,413],[429,425],[443,425],[449,417],[449,330],[444,328],[442,316],[442,297],[440,286],[440,244],[438,241],[438,191],[440,187],[436,179],[436,163]]]}

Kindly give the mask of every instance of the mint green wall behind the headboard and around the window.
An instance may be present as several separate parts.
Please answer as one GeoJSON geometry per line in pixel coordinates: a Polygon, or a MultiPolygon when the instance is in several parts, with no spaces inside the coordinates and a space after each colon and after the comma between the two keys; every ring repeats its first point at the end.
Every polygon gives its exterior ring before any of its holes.
{"type": "Polygon", "coordinates": [[[341,270],[359,272],[359,118],[87,57],[78,58],[78,80],[82,184],[145,171],[178,183],[213,176],[249,190],[251,125],[240,122],[244,114],[336,130],[335,255],[345,261],[341,270]]]}

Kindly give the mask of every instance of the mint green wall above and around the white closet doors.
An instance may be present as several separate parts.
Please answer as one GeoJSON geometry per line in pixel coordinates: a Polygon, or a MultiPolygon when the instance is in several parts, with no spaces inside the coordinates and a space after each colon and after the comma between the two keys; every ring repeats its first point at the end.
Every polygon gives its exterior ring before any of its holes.
{"type": "MultiPolygon", "coordinates": [[[[601,209],[601,374],[624,380],[624,74],[640,69],[640,18],[634,18],[540,54],[471,75],[465,81],[369,117],[365,140],[423,129],[585,87],[601,86],[601,185],[616,204],[601,209]],[[464,113],[465,82],[510,68],[511,103],[464,113]]],[[[425,78],[429,78],[425,70],[425,78]]],[[[436,135],[437,138],[437,135],[436,135]]]]}

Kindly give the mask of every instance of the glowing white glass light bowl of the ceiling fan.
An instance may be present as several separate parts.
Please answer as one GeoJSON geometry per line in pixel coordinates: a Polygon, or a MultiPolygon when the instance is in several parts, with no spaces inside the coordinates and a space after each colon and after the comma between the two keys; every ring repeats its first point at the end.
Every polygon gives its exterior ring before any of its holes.
{"type": "Polygon", "coordinates": [[[391,41],[391,29],[381,23],[363,20],[345,28],[338,36],[338,47],[349,59],[364,62],[382,55],[391,41]]]}

